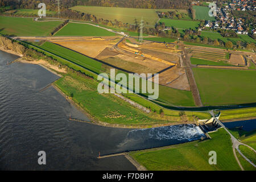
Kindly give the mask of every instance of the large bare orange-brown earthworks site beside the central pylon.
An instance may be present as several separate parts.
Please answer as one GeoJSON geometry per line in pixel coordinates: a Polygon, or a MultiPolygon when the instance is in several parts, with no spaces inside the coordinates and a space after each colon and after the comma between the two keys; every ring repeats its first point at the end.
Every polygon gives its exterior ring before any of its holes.
{"type": "Polygon", "coordinates": [[[160,85],[190,90],[185,68],[179,67],[180,50],[175,45],[167,47],[155,42],[135,44],[125,39],[121,41],[119,37],[55,38],[49,41],[129,72],[159,73],[160,85]]]}

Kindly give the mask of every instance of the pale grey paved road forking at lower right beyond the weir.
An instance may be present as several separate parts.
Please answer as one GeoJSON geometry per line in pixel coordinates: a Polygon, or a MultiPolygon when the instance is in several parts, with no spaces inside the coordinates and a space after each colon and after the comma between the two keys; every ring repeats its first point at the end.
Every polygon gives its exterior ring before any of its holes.
{"type": "Polygon", "coordinates": [[[233,153],[234,153],[234,156],[235,156],[235,158],[236,158],[236,160],[237,160],[237,163],[238,163],[238,165],[240,166],[240,168],[242,169],[242,171],[244,171],[244,169],[243,169],[243,167],[242,167],[240,161],[239,161],[238,158],[237,158],[236,150],[241,154],[241,156],[242,156],[245,160],[247,160],[247,162],[249,162],[251,165],[253,165],[254,167],[256,167],[256,165],[255,165],[253,162],[251,162],[248,158],[246,158],[245,155],[242,154],[242,152],[239,150],[239,146],[240,146],[240,145],[244,145],[244,146],[246,146],[246,147],[249,147],[251,150],[253,150],[253,151],[256,153],[256,151],[254,150],[254,148],[248,146],[247,144],[244,144],[244,143],[239,142],[239,141],[229,132],[229,130],[226,129],[226,127],[223,125],[223,123],[222,123],[218,118],[216,118],[216,117],[214,116],[213,110],[212,110],[212,111],[209,111],[209,113],[212,115],[212,117],[214,117],[214,119],[216,119],[216,121],[218,122],[218,124],[219,124],[220,126],[222,126],[222,127],[226,130],[226,132],[230,135],[231,140],[232,140],[232,143],[233,143],[233,145],[232,145],[232,147],[233,147],[233,153]]]}

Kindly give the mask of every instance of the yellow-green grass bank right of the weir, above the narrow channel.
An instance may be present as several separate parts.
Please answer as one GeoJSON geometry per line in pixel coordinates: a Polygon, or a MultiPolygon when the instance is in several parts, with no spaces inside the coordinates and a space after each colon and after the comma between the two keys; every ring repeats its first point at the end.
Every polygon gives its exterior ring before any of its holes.
{"type": "Polygon", "coordinates": [[[256,117],[256,107],[221,110],[220,120],[256,117]]]}

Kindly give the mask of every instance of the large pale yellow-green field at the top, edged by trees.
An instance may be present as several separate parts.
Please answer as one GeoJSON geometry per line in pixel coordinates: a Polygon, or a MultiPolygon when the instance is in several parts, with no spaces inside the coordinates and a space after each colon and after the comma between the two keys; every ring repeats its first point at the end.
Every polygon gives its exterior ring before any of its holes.
{"type": "Polygon", "coordinates": [[[108,19],[114,22],[115,19],[123,23],[134,24],[135,19],[137,22],[141,21],[143,17],[144,23],[154,26],[158,20],[158,15],[154,9],[133,9],[123,7],[100,7],[100,6],[74,6],[72,10],[81,13],[88,13],[96,16],[98,19],[108,19]]]}

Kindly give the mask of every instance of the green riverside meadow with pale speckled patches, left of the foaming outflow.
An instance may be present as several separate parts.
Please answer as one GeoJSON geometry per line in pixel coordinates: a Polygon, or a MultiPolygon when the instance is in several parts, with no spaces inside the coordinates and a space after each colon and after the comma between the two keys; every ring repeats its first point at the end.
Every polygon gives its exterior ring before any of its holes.
{"type": "Polygon", "coordinates": [[[99,94],[96,80],[67,75],[55,84],[68,96],[73,95],[73,100],[99,121],[123,125],[164,122],[149,118],[141,110],[135,109],[113,94],[99,94]]]}

